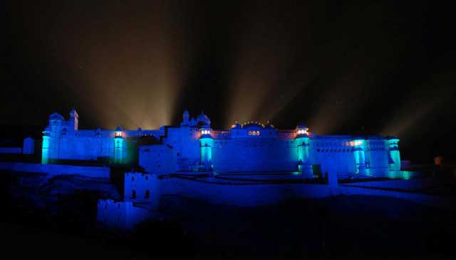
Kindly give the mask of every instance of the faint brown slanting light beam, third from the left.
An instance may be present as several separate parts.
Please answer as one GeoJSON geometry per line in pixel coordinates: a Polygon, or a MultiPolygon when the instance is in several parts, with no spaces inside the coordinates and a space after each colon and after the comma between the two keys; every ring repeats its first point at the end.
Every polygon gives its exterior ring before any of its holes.
{"type": "Polygon", "coordinates": [[[381,88],[378,83],[398,59],[392,54],[379,54],[375,58],[366,56],[368,46],[350,48],[348,43],[336,53],[336,62],[325,68],[324,77],[321,77],[319,86],[323,91],[307,123],[319,134],[351,133],[350,129],[341,129],[351,120],[356,120],[361,128],[363,118],[369,116],[366,109],[381,88]]]}

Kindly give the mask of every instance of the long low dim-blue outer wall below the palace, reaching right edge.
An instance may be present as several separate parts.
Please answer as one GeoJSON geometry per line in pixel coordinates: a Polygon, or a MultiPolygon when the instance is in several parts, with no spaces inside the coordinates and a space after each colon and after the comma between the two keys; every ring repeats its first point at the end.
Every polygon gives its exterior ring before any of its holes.
{"type": "Polygon", "coordinates": [[[407,199],[421,204],[451,204],[454,198],[443,198],[413,191],[398,191],[392,187],[414,187],[419,189],[423,183],[419,180],[392,180],[382,182],[362,182],[366,187],[325,184],[216,184],[182,178],[167,178],[160,184],[161,193],[203,199],[213,204],[233,204],[240,207],[256,207],[266,204],[278,204],[286,199],[323,198],[334,195],[368,195],[407,199]],[[370,185],[371,184],[371,185],[370,185]],[[369,186],[370,185],[370,186],[369,186]]]}

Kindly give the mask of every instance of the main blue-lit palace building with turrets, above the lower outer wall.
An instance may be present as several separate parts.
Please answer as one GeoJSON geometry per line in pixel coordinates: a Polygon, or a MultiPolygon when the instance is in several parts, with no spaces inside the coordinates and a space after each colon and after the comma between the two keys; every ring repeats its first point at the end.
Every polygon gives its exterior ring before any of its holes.
{"type": "Polygon", "coordinates": [[[79,130],[78,113],[58,113],[43,131],[42,163],[105,160],[139,165],[145,172],[302,172],[304,177],[387,176],[400,170],[398,139],[383,136],[318,135],[304,125],[279,130],[266,123],[234,123],[212,130],[201,113],[185,111],[180,126],[157,130],[79,130]]]}

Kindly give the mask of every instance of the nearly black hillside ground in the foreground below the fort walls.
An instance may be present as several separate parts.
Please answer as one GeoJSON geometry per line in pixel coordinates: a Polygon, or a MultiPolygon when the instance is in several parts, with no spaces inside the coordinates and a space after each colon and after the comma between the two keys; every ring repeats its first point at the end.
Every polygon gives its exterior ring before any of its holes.
{"type": "Polygon", "coordinates": [[[363,196],[299,199],[257,208],[166,197],[160,209],[162,220],[120,236],[98,229],[95,222],[96,199],[116,196],[109,184],[66,177],[37,190],[31,182],[20,187],[6,179],[2,182],[3,254],[14,259],[454,256],[454,208],[363,196]],[[66,192],[58,192],[58,187],[66,192]]]}

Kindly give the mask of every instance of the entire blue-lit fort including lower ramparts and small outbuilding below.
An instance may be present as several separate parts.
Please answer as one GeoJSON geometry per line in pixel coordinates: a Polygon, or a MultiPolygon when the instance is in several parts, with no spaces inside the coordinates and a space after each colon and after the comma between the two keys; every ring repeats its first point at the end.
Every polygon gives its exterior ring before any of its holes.
{"type": "MultiPolygon", "coordinates": [[[[382,187],[385,180],[398,180],[388,187],[423,186],[400,182],[412,172],[401,170],[397,137],[318,135],[305,125],[280,130],[269,122],[236,122],[229,130],[214,130],[207,115],[191,117],[187,110],[180,125],[152,130],[80,130],[78,120],[76,110],[68,119],[53,113],[43,130],[41,163],[4,162],[0,169],[118,182],[120,196],[100,197],[97,205],[98,221],[110,228],[132,229],[157,216],[170,197],[238,207],[335,194],[431,201],[382,187]],[[339,184],[358,179],[383,182],[339,184]]],[[[28,137],[23,147],[6,152],[30,155],[33,145],[28,137]]]]}

